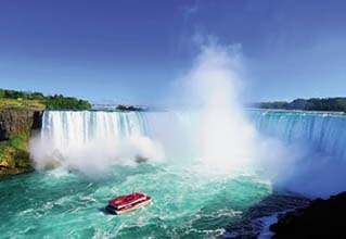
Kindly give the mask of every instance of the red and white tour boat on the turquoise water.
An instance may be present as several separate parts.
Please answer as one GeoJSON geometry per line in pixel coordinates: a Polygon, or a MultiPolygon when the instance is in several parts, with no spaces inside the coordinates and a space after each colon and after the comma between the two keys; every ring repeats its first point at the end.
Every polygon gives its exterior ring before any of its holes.
{"type": "Polygon", "coordinates": [[[118,215],[149,205],[151,202],[152,198],[150,196],[133,192],[132,194],[120,196],[118,198],[111,199],[108,201],[108,205],[105,209],[108,212],[118,215]]]}

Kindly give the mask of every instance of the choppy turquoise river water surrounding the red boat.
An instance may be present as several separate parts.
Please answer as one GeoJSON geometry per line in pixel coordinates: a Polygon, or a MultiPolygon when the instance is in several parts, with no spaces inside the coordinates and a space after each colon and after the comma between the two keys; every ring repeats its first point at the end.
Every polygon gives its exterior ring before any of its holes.
{"type": "Polygon", "coordinates": [[[118,166],[98,178],[62,169],[0,181],[1,238],[213,238],[272,193],[254,175],[201,173],[195,163],[118,166]],[[120,216],[107,200],[136,189],[152,205],[120,216]]]}

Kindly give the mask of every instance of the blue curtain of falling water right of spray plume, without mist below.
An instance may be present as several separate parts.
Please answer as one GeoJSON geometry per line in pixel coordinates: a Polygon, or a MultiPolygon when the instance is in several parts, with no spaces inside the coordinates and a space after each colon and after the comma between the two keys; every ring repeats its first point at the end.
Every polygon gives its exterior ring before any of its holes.
{"type": "Polygon", "coordinates": [[[256,128],[266,136],[346,161],[346,116],[302,112],[252,112],[256,128]]]}

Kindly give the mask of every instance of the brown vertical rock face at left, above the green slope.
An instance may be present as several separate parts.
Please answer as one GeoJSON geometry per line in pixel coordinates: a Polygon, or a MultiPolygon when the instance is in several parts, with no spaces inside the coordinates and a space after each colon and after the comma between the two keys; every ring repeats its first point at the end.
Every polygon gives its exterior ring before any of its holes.
{"type": "Polygon", "coordinates": [[[41,127],[42,111],[25,108],[0,109],[0,141],[9,140],[18,134],[30,135],[41,127]]]}

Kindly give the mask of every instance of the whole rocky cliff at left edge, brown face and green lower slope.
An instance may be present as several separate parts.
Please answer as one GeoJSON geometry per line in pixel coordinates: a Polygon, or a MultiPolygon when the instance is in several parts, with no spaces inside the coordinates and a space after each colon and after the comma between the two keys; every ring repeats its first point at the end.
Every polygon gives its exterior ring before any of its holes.
{"type": "Polygon", "coordinates": [[[0,175],[31,171],[28,141],[41,127],[42,110],[0,109],[0,175]]]}

